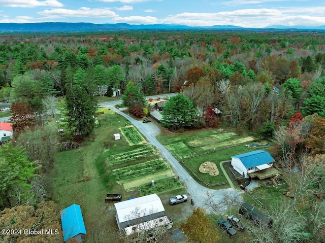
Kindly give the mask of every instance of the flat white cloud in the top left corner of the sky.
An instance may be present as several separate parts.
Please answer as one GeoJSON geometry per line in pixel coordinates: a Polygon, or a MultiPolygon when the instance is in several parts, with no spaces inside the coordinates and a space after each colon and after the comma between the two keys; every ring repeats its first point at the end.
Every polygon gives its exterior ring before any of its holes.
{"type": "Polygon", "coordinates": [[[1,5],[4,7],[12,7],[12,8],[35,8],[35,7],[62,7],[63,4],[58,2],[57,0],[46,0],[46,1],[38,1],[38,0],[1,0],[1,5]]]}

